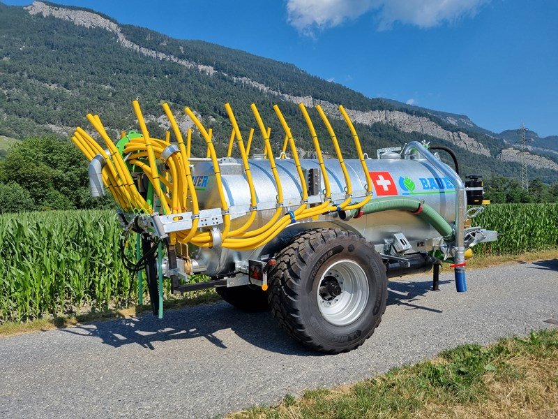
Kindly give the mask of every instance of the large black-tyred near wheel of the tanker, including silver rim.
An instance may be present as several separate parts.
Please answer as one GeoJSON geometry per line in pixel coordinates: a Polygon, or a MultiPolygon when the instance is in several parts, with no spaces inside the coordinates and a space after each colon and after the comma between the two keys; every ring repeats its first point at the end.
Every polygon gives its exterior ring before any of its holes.
{"type": "Polygon", "coordinates": [[[281,327],[324,353],[363,344],[386,310],[382,258],[363,237],[338,228],[295,236],[276,255],[268,284],[271,312],[281,327]]]}

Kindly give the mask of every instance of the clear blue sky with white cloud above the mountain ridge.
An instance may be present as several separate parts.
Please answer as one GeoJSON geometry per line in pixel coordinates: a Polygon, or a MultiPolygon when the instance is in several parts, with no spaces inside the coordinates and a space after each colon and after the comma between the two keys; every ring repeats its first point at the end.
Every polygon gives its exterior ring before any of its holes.
{"type": "MultiPolygon", "coordinates": [[[[3,0],[9,4],[30,1],[3,0]]],[[[556,0],[59,0],[280,61],[366,96],[558,135],[556,0]]]]}

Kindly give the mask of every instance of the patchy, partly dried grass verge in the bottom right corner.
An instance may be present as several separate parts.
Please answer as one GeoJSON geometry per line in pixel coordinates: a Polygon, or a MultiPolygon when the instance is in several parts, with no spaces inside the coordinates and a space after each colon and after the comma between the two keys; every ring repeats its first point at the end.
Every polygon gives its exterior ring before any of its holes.
{"type": "Polygon", "coordinates": [[[557,418],[558,330],[469,344],[333,390],[229,418],[557,418]]]}

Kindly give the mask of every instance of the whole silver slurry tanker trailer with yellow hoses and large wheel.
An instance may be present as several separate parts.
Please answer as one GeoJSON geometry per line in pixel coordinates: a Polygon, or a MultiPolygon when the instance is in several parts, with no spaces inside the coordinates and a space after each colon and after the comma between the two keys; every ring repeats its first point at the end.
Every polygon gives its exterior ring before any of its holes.
{"type": "MultiPolygon", "coordinates": [[[[137,101],[133,108],[139,132],[114,142],[98,115],[89,114],[105,146],[79,127],[73,141],[90,161],[93,196],[108,190],[121,206],[121,256],[138,275],[140,303],[146,286],[153,314],[160,317],[164,281],[172,293],[215,287],[240,309],[271,307],[281,327],[310,348],[350,351],[379,325],[389,277],[434,267],[437,289],[439,265],[449,263],[457,291],[465,292],[470,249],[496,239],[494,231],[472,226],[482,207],[467,209],[468,191],[451,149],[413,141],[378,149],[370,159],[342,106],[336,115],[347,125],[342,138],[354,144],[357,159],[343,159],[338,133],[320,106],[335,159],[324,159],[303,104],[300,117],[315,159],[299,158],[277,105],[282,150],[273,150],[271,128],[252,104],[263,153],[251,154],[255,130],[245,142],[225,104],[232,134],[222,158],[211,128],[190,108],[185,111],[205,142],[206,157],[190,154],[192,130],[185,140],[167,103],[172,141],[170,132],[164,140],[152,138],[137,101]],[[439,159],[442,149],[453,156],[456,170],[439,159]],[[200,274],[206,281],[199,281],[200,274]]],[[[471,196],[482,195],[482,186],[471,189],[471,196]]]]}

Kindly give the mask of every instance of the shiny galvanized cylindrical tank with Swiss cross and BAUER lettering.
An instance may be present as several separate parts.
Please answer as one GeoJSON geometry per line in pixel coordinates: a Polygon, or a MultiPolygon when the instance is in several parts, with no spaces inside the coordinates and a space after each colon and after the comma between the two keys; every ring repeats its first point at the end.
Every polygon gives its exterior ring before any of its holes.
{"type": "MultiPolygon", "coordinates": [[[[396,154],[396,156],[398,155],[396,154]]],[[[275,213],[277,189],[269,160],[250,159],[249,162],[257,195],[258,209],[269,208],[269,210],[258,212],[257,219],[252,224],[252,229],[264,225],[275,213]]],[[[450,179],[442,175],[427,161],[423,159],[392,158],[368,159],[365,162],[372,179],[372,200],[377,197],[410,196],[430,205],[444,216],[448,223],[455,221],[455,186],[450,179]]],[[[324,165],[329,177],[333,203],[340,204],[345,200],[347,182],[345,182],[339,161],[337,159],[326,159],[324,165]]],[[[353,202],[356,203],[365,197],[365,174],[359,160],[345,160],[345,165],[351,179],[353,202]]],[[[284,205],[290,210],[296,210],[301,204],[302,188],[294,160],[276,159],[276,166],[280,176],[284,205]]],[[[308,179],[309,169],[317,170],[321,186],[319,186],[319,191],[315,191],[315,193],[323,195],[325,189],[324,177],[319,170],[318,161],[303,159],[301,160],[301,168],[307,177],[307,185],[311,182],[308,179]]],[[[229,206],[243,205],[248,210],[250,189],[244,176],[241,161],[221,159],[220,172],[229,206]]],[[[202,209],[220,207],[211,161],[196,161],[193,166],[193,176],[200,207],[202,209]]],[[[285,209],[286,211],[287,209],[285,209]]],[[[232,228],[243,225],[247,217],[248,215],[234,219],[232,228]]],[[[320,218],[319,221],[324,221],[331,219],[331,215],[320,218]]],[[[358,230],[372,244],[384,244],[395,233],[404,233],[410,242],[425,242],[428,239],[439,237],[439,233],[428,223],[421,221],[407,211],[395,210],[369,214],[348,222],[352,228],[358,230]]],[[[238,252],[229,249],[218,249],[218,251],[216,249],[200,249],[196,257],[204,260],[208,267],[207,273],[213,275],[229,271],[231,266],[234,266],[235,261],[257,257],[258,250],[238,252]]]]}

